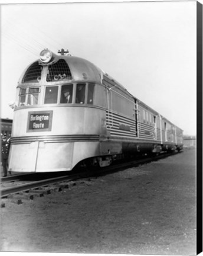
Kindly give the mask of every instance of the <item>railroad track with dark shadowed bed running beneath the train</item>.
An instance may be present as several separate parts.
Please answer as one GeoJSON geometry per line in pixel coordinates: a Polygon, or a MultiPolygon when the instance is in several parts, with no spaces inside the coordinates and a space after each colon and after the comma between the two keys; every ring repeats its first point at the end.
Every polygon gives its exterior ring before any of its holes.
{"type": "MultiPolygon", "coordinates": [[[[68,183],[70,183],[71,181],[110,174],[112,172],[121,171],[130,167],[136,167],[138,165],[146,164],[148,162],[158,161],[159,159],[174,155],[175,153],[177,152],[164,153],[158,156],[142,158],[136,161],[122,162],[120,164],[110,165],[110,167],[87,172],[83,171],[76,174],[68,172],[68,174],[66,175],[61,174],[60,176],[57,175],[57,177],[50,177],[46,179],[41,179],[40,177],[37,177],[37,179],[39,179],[37,181],[32,181],[32,179],[37,174],[12,175],[1,179],[1,187],[3,187],[1,189],[1,198],[8,198],[12,194],[17,194],[18,198],[19,193],[21,193],[21,195],[24,194],[28,196],[29,199],[34,199],[34,194],[38,194],[40,196],[43,196],[44,194],[50,194],[50,187],[58,188],[58,191],[61,191],[63,187],[67,188],[68,183]]],[[[48,174],[45,175],[47,176],[48,174]]]]}

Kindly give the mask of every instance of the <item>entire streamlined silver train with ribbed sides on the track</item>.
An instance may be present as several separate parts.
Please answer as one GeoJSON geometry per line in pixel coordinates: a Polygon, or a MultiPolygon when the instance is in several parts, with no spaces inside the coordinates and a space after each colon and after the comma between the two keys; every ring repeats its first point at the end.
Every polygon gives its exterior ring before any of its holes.
{"type": "Polygon", "coordinates": [[[42,50],[19,78],[8,171],[107,167],[128,155],[182,150],[182,129],[67,52],[42,50]]]}

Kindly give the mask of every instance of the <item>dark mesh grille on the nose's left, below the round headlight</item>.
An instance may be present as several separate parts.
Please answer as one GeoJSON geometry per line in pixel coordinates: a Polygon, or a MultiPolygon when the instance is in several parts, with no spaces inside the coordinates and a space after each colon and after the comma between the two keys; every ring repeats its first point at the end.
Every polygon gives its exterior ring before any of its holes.
{"type": "Polygon", "coordinates": [[[30,68],[25,72],[24,78],[22,78],[22,83],[27,82],[40,82],[41,80],[42,66],[39,65],[38,61],[34,62],[30,68]]]}

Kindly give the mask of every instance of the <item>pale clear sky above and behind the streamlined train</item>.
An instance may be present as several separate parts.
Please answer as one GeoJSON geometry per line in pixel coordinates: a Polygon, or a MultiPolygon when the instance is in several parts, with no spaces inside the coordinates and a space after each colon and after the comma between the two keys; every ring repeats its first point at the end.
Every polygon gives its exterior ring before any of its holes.
{"type": "Polygon", "coordinates": [[[196,36],[195,1],[1,5],[1,117],[41,50],[64,48],[196,135],[196,36]]]}

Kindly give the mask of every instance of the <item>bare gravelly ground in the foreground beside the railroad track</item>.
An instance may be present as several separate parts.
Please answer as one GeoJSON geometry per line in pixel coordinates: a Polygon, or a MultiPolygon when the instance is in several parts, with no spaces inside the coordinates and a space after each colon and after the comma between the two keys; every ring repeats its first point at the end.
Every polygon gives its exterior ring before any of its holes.
{"type": "Polygon", "coordinates": [[[1,209],[1,251],[196,254],[195,150],[1,209]]]}

